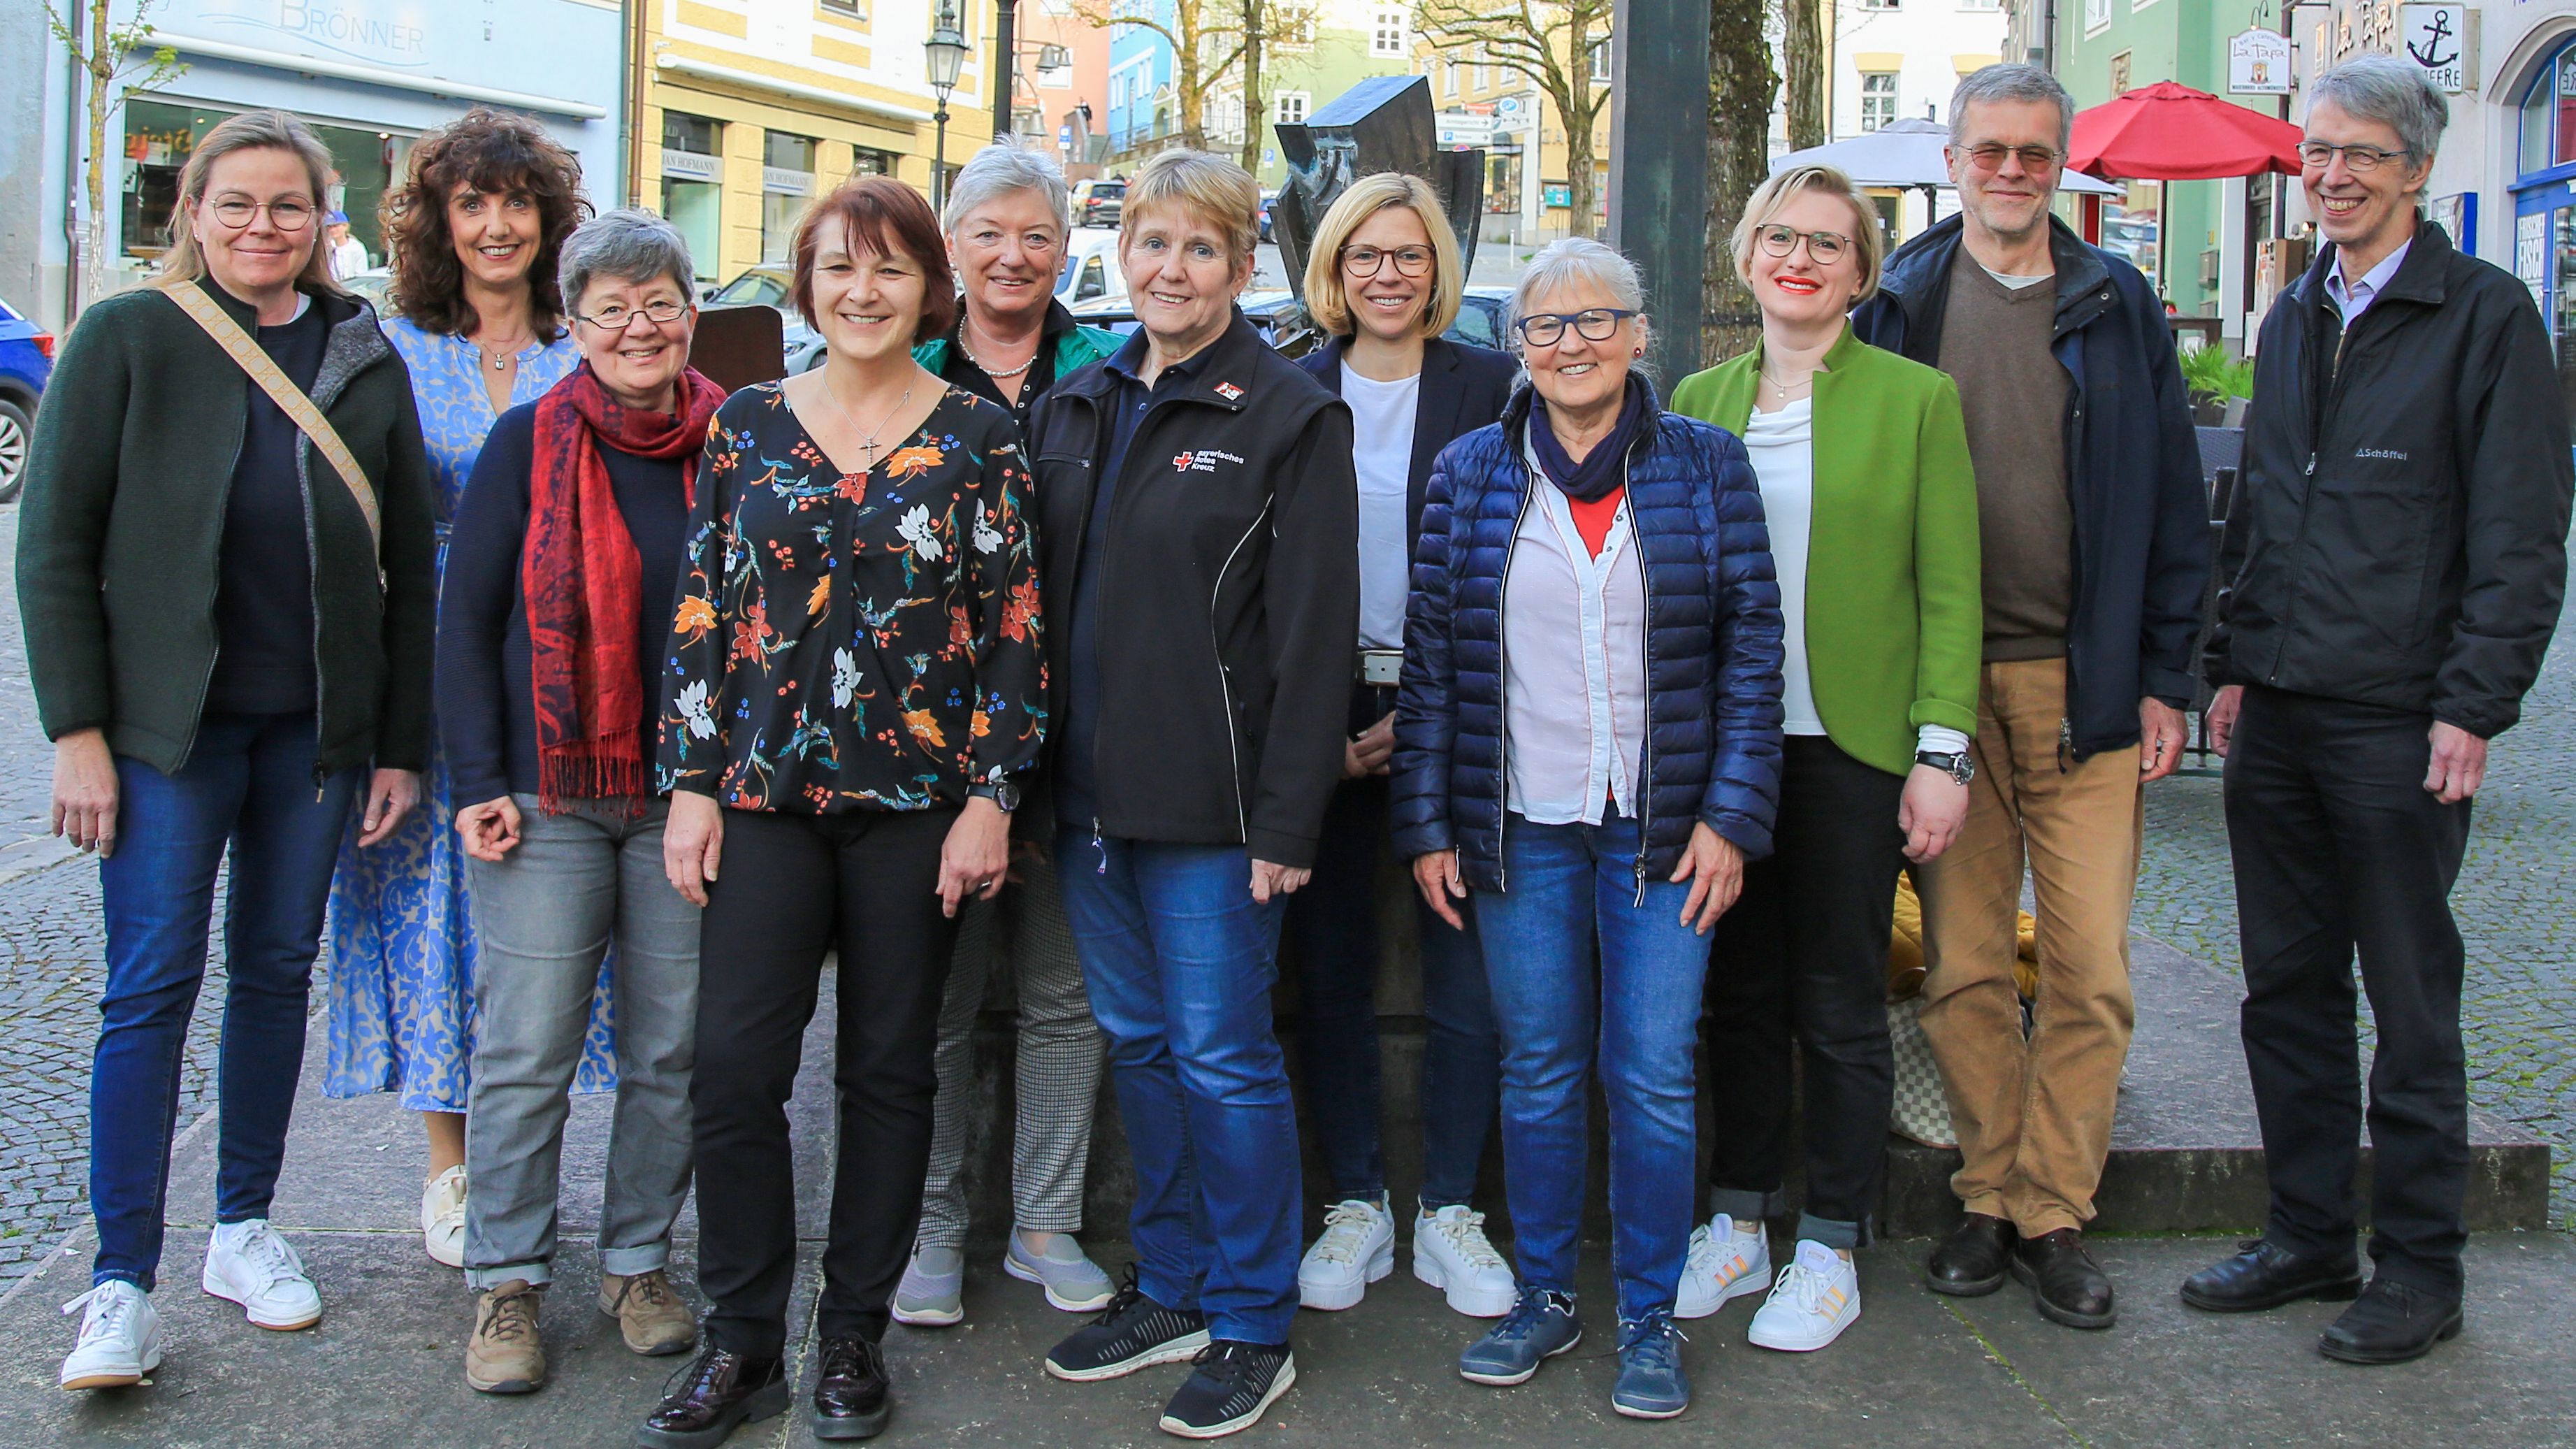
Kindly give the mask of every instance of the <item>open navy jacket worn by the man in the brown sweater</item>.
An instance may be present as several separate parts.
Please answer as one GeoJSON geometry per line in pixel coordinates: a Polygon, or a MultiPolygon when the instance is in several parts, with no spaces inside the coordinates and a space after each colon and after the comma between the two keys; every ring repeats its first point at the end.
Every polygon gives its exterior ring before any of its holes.
{"type": "MultiPolygon", "coordinates": [[[[1860,340],[1940,366],[1958,217],[1888,258],[1852,309],[1860,340]]],[[[2058,268],[2050,351],[2066,366],[2066,495],[2074,601],[2066,614],[2066,745],[2076,758],[2138,743],[2138,701],[2187,709],[2210,580],[2210,498],[2164,304],[2138,268],[2048,222],[2058,268]]],[[[2035,420],[2040,423],[2040,420],[2035,420]]]]}

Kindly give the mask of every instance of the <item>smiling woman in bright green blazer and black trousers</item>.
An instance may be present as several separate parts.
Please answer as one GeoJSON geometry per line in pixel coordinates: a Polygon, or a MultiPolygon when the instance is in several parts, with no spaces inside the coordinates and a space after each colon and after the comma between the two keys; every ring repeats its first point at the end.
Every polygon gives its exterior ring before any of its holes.
{"type": "Polygon", "coordinates": [[[1958,387],[1850,333],[1878,284],[1878,214],[1832,168],[1793,168],[1744,206],[1736,273],[1762,348],[1682,379],[1672,410],[1744,438],[1762,482],[1785,621],[1788,745],[1777,853],[1744,869],[1708,975],[1718,1137],[1713,1217],[1677,1312],[1762,1292],[1747,1338],[1824,1348],[1860,1318],[1896,1067],[1886,964],[1896,877],[1968,812],[1981,650],[1976,474],[1958,387]],[[1806,1214],[1770,1271],[1790,1029],[1806,1052],[1806,1214]]]}

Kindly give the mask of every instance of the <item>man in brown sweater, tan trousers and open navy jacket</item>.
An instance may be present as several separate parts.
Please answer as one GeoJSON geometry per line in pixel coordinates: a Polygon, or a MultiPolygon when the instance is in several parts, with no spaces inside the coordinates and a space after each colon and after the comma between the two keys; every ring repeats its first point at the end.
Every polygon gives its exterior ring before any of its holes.
{"type": "Polygon", "coordinates": [[[1929,1284],[2017,1276],[2110,1328],[2084,1250],[2128,1057],[2138,802],[2182,758],[2208,508],[2174,343],[2146,278],[2048,217],[2074,106],[1999,64],[1950,101],[1960,217],[1888,258],[1870,343],[1958,379],[1976,464],[1986,663],[1968,822],[1917,869],[1924,1036],[1950,1091],[1965,1209],[1929,1284]],[[2099,405],[2099,407],[2094,407],[2099,405]],[[2012,977],[2022,874],[2040,987],[2012,977]]]}

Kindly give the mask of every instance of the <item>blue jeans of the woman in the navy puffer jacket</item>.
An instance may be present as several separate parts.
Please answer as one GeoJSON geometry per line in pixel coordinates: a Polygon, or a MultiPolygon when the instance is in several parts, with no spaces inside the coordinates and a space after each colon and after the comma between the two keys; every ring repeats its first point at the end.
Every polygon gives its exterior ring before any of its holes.
{"type": "Polygon", "coordinates": [[[1636,887],[1636,820],[1504,822],[1504,892],[1476,892],[1502,1024],[1502,1163],[1522,1289],[1574,1292],[1584,1220],[1587,1085],[1610,1098],[1610,1266],[1618,1315],[1672,1312],[1690,1250],[1690,1049],[1708,936],[1682,926],[1687,884],[1636,887]],[[1592,954],[1600,949],[1600,975],[1592,954]]]}

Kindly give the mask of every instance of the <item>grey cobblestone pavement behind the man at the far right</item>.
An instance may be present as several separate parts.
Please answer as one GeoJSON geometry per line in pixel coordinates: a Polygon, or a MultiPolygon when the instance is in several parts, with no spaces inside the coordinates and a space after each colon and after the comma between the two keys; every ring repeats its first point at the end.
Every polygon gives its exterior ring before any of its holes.
{"type": "MultiPolygon", "coordinates": [[[[2576,611],[2571,611],[2576,614],[2576,611]]],[[[2218,763],[2215,758],[2210,761],[2218,763]]],[[[2576,616],[2496,737],[2452,913],[2468,941],[2468,1096],[2550,1145],[2550,1222],[2576,1227],[2576,616]]],[[[2241,972],[2215,779],[2146,792],[2136,928],[2241,972]]],[[[2362,1003],[2367,1026],[2367,1000],[2362,1003]]]]}

